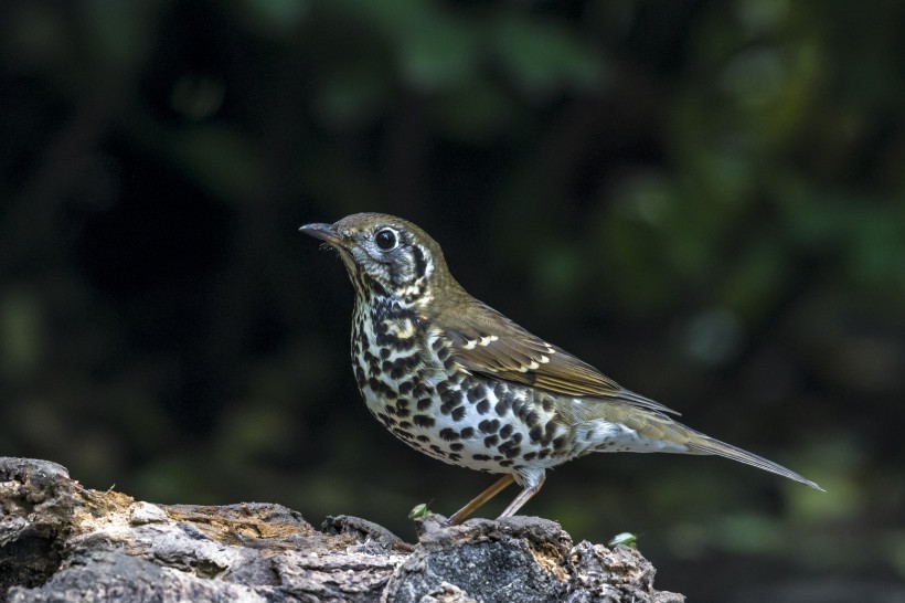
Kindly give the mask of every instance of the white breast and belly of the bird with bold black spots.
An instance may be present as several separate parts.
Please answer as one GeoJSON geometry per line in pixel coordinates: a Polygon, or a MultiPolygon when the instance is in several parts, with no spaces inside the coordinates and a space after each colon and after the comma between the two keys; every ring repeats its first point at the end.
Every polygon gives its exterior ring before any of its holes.
{"type": "Polygon", "coordinates": [[[352,363],[371,413],[429,456],[517,474],[573,456],[552,394],[464,370],[414,316],[356,311],[352,363]]]}

